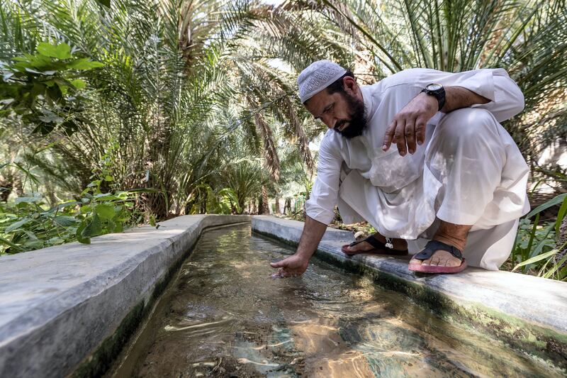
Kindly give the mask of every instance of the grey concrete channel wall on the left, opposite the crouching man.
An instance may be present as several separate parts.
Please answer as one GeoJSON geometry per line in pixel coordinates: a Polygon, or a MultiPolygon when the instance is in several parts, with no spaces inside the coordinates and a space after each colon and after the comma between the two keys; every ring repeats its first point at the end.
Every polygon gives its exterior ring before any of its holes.
{"type": "Polygon", "coordinates": [[[0,377],[101,374],[203,228],[249,220],[181,216],[0,257],[0,377]]]}

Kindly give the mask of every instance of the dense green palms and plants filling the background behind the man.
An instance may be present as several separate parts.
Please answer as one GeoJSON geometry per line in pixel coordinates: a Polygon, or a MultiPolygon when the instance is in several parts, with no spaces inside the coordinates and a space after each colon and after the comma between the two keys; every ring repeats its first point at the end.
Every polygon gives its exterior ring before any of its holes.
{"type": "MultiPolygon", "coordinates": [[[[567,131],[563,0],[0,0],[0,10],[0,252],[269,201],[297,216],[325,127],[295,80],[322,58],[362,84],[410,67],[504,67],[526,99],[504,126],[532,167],[532,200],[564,191],[557,159],[541,159],[567,131]]],[[[553,265],[549,277],[564,279],[555,201],[552,221],[521,222],[512,267],[553,265]]]]}

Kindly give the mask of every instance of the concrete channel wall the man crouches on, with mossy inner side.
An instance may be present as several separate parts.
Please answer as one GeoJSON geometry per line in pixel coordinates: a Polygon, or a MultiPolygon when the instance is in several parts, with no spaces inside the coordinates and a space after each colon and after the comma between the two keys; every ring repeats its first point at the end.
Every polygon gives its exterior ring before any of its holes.
{"type": "MultiPolygon", "coordinates": [[[[303,222],[254,216],[252,230],[297,245],[303,222]]],[[[567,283],[511,272],[467,268],[460,274],[415,274],[408,257],[346,257],[348,231],[327,228],[317,257],[351,271],[371,274],[388,289],[408,294],[439,315],[482,329],[514,348],[567,371],[567,283]]]]}

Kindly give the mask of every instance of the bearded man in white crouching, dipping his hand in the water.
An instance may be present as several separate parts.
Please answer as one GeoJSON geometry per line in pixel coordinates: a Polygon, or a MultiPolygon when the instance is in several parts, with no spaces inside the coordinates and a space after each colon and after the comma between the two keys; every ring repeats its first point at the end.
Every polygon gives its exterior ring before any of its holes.
{"type": "Polygon", "coordinates": [[[297,251],[271,263],[274,277],[305,272],[336,205],[345,223],[378,231],[344,245],[347,255],[420,250],[415,272],[498,270],[529,211],[529,168],[500,125],[524,109],[524,96],[505,70],[412,69],[359,86],[352,72],[320,60],[298,87],[330,130],[297,251]]]}

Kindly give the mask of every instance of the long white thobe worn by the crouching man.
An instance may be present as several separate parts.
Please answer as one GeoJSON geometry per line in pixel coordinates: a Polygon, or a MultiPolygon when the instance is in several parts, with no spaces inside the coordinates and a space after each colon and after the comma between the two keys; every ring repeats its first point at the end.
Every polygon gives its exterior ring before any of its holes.
{"type": "Polygon", "coordinates": [[[430,239],[439,219],[473,225],[464,250],[469,265],[498,269],[510,254],[517,219],[529,211],[529,168],[500,125],[524,108],[515,82],[502,69],[412,69],[361,92],[368,127],[352,139],[327,131],[307,215],[329,224],[338,204],[347,223],[364,219],[382,235],[406,240],[430,239]],[[395,114],[431,83],[464,87],[490,102],[437,113],[413,155],[400,156],[395,144],[384,152],[395,114]]]}

